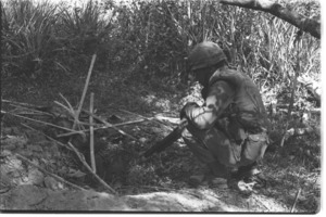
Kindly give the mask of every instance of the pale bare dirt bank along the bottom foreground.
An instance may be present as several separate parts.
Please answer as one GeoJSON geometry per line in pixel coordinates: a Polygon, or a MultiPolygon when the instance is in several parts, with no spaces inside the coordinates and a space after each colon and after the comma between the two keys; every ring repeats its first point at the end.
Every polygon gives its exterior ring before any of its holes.
{"type": "MultiPolygon", "coordinates": [[[[259,191],[243,195],[226,184],[191,188],[186,183],[188,177],[184,174],[179,174],[183,179],[173,180],[179,188],[173,188],[173,184],[159,188],[158,183],[158,188],[153,184],[147,191],[141,191],[145,188],[141,186],[124,187],[123,182],[110,179],[113,189],[117,189],[114,195],[101,184],[96,184],[96,188],[87,186],[91,175],[76,166],[77,159],[66,149],[41,132],[22,127],[1,127],[0,157],[2,212],[290,213],[293,209],[294,213],[310,213],[293,205],[296,194],[286,204],[275,195],[267,196],[259,191]],[[75,187],[53,178],[53,174],[64,177],[63,180],[73,182],[75,187]]],[[[306,199],[299,196],[297,202],[300,200],[306,199]]]]}

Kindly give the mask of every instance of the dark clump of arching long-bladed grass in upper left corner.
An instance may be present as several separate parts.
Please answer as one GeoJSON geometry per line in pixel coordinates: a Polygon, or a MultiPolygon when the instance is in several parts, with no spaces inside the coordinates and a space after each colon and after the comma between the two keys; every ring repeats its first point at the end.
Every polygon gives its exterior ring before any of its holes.
{"type": "Polygon", "coordinates": [[[101,9],[92,1],[71,10],[49,1],[13,0],[1,10],[4,78],[78,73],[110,28],[110,21],[100,17],[101,9]]]}

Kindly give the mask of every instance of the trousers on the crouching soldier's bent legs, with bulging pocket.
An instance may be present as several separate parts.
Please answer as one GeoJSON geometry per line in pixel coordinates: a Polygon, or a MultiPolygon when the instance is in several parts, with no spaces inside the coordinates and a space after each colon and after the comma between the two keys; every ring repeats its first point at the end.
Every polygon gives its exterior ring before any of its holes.
{"type": "Polygon", "coordinates": [[[265,132],[248,135],[237,144],[217,128],[199,130],[191,125],[183,132],[183,139],[200,162],[217,168],[252,165],[263,157],[268,144],[265,132]]]}

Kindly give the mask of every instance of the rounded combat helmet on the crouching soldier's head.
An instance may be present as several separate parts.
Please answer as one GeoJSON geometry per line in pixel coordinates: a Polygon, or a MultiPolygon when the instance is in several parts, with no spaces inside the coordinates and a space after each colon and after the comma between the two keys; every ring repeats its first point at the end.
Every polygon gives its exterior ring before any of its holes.
{"type": "Polygon", "coordinates": [[[198,43],[189,53],[189,69],[196,71],[213,66],[221,61],[226,61],[223,50],[212,41],[198,43]]]}

